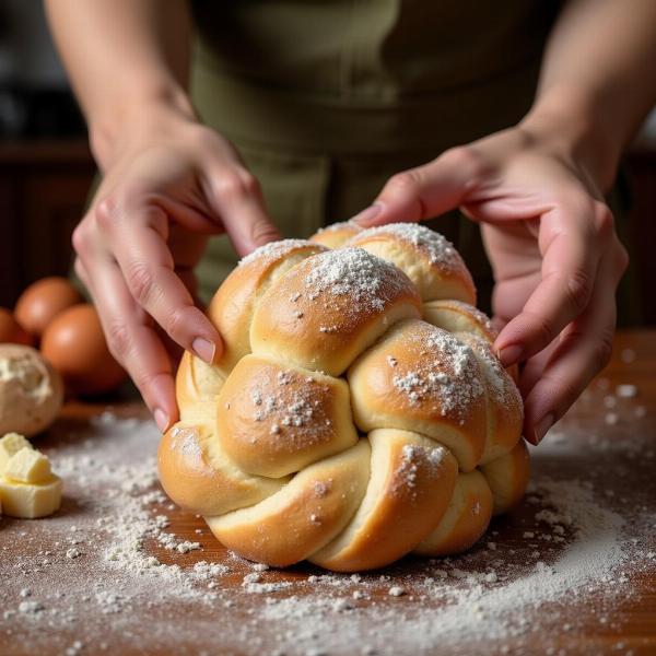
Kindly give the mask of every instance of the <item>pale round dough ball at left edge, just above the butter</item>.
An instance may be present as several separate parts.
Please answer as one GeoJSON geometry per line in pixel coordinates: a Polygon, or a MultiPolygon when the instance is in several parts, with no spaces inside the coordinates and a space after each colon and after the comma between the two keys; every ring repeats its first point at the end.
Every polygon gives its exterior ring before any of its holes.
{"type": "Polygon", "coordinates": [[[39,433],[55,421],[62,400],[61,377],[38,351],[0,344],[0,435],[39,433]]]}

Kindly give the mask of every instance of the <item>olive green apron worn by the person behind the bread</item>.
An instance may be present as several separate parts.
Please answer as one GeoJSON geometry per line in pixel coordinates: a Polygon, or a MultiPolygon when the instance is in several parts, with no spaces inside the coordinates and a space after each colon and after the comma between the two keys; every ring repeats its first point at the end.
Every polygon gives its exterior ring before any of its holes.
{"type": "MultiPolygon", "coordinates": [[[[559,8],[199,0],[192,98],[260,181],[283,236],[305,237],[364,209],[395,173],[515,125],[530,107],[559,8]]],[[[478,226],[456,212],[430,225],[456,244],[489,311],[493,280],[478,226]]],[[[236,261],[225,237],[211,242],[198,270],[202,298],[236,261]]]]}

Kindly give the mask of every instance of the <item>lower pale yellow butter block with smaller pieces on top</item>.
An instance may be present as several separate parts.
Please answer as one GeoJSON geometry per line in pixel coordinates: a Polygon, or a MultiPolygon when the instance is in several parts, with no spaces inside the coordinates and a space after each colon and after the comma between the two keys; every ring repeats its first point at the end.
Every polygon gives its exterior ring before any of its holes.
{"type": "Polygon", "coordinates": [[[59,509],[63,485],[52,475],[44,483],[20,483],[0,476],[0,500],[5,515],[21,519],[46,517],[59,509]]]}

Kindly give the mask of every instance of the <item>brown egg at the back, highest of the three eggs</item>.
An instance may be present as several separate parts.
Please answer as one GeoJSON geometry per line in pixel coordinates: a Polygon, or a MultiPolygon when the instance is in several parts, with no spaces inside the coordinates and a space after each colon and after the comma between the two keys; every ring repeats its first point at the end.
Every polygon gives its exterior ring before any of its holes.
{"type": "Polygon", "coordinates": [[[21,294],[14,316],[30,335],[39,338],[60,312],[81,302],[82,296],[66,278],[52,276],[37,280],[21,294]]]}

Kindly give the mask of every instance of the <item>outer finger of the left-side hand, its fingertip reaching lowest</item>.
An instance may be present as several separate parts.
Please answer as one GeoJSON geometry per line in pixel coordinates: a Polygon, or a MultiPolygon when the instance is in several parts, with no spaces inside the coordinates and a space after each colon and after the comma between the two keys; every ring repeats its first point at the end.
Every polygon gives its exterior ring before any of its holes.
{"type": "Polygon", "coordinates": [[[112,354],[130,374],[160,430],[167,430],[178,413],[171,360],[162,340],[115,262],[96,265],[93,290],[112,354]]]}

